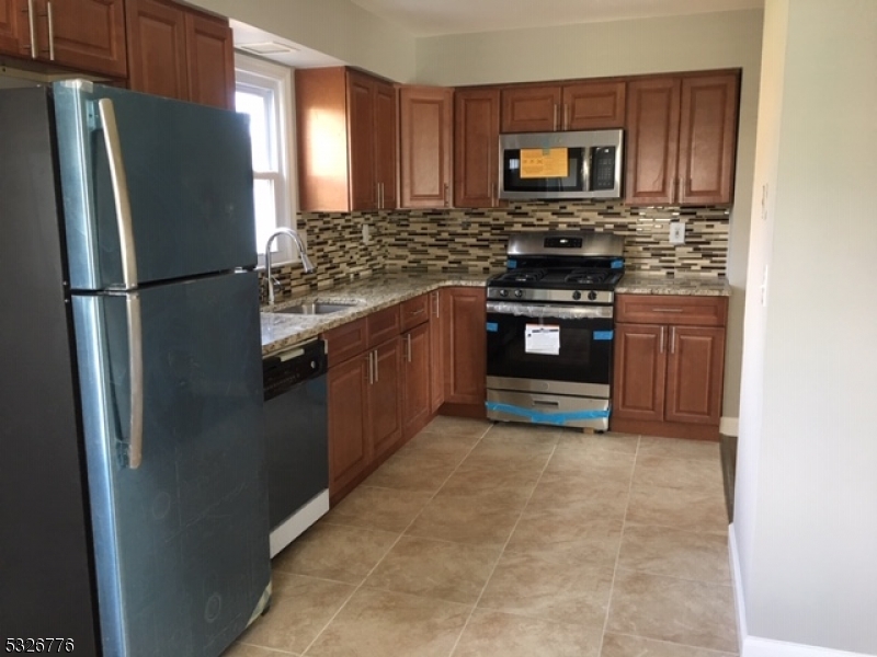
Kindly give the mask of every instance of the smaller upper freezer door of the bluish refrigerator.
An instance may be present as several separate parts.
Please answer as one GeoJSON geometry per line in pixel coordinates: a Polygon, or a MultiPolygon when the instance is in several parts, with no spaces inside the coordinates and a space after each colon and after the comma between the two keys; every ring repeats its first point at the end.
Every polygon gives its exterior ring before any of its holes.
{"type": "Polygon", "coordinates": [[[139,285],[255,266],[246,116],[81,80],[53,94],[73,290],[126,287],[116,217],[125,192],[139,285]],[[127,189],[114,187],[114,161],[127,189]]]}

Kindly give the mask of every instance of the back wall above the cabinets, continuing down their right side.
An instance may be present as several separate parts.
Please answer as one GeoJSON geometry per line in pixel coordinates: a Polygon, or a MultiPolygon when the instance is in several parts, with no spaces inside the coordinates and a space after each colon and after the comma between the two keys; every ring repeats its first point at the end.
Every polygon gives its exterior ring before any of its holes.
{"type": "Polygon", "coordinates": [[[742,68],[722,415],[737,417],[762,12],[733,11],[420,38],[417,79],[448,87],[742,68]]]}

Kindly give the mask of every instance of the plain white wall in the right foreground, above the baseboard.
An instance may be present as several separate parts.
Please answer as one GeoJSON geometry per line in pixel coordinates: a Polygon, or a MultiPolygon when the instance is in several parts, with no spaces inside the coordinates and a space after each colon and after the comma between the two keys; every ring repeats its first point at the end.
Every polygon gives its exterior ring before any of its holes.
{"type": "Polygon", "coordinates": [[[755,185],[772,200],[752,231],[738,592],[751,637],[874,655],[877,2],[766,7],[755,185]]]}

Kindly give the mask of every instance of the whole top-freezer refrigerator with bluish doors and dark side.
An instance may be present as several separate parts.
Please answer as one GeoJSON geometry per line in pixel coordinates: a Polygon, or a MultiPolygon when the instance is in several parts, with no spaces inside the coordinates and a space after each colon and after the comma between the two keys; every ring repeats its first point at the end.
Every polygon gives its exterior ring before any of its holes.
{"type": "Polygon", "coordinates": [[[265,609],[255,251],[241,115],[0,91],[3,649],[219,655],[265,609]]]}

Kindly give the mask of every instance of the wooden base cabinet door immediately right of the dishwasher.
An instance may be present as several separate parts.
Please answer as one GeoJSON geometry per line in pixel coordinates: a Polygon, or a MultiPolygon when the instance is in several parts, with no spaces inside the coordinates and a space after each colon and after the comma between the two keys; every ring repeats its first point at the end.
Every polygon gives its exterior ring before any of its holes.
{"type": "Polygon", "coordinates": [[[327,374],[330,496],[362,474],[372,459],[366,435],[368,371],[368,356],[363,354],[327,374]]]}

